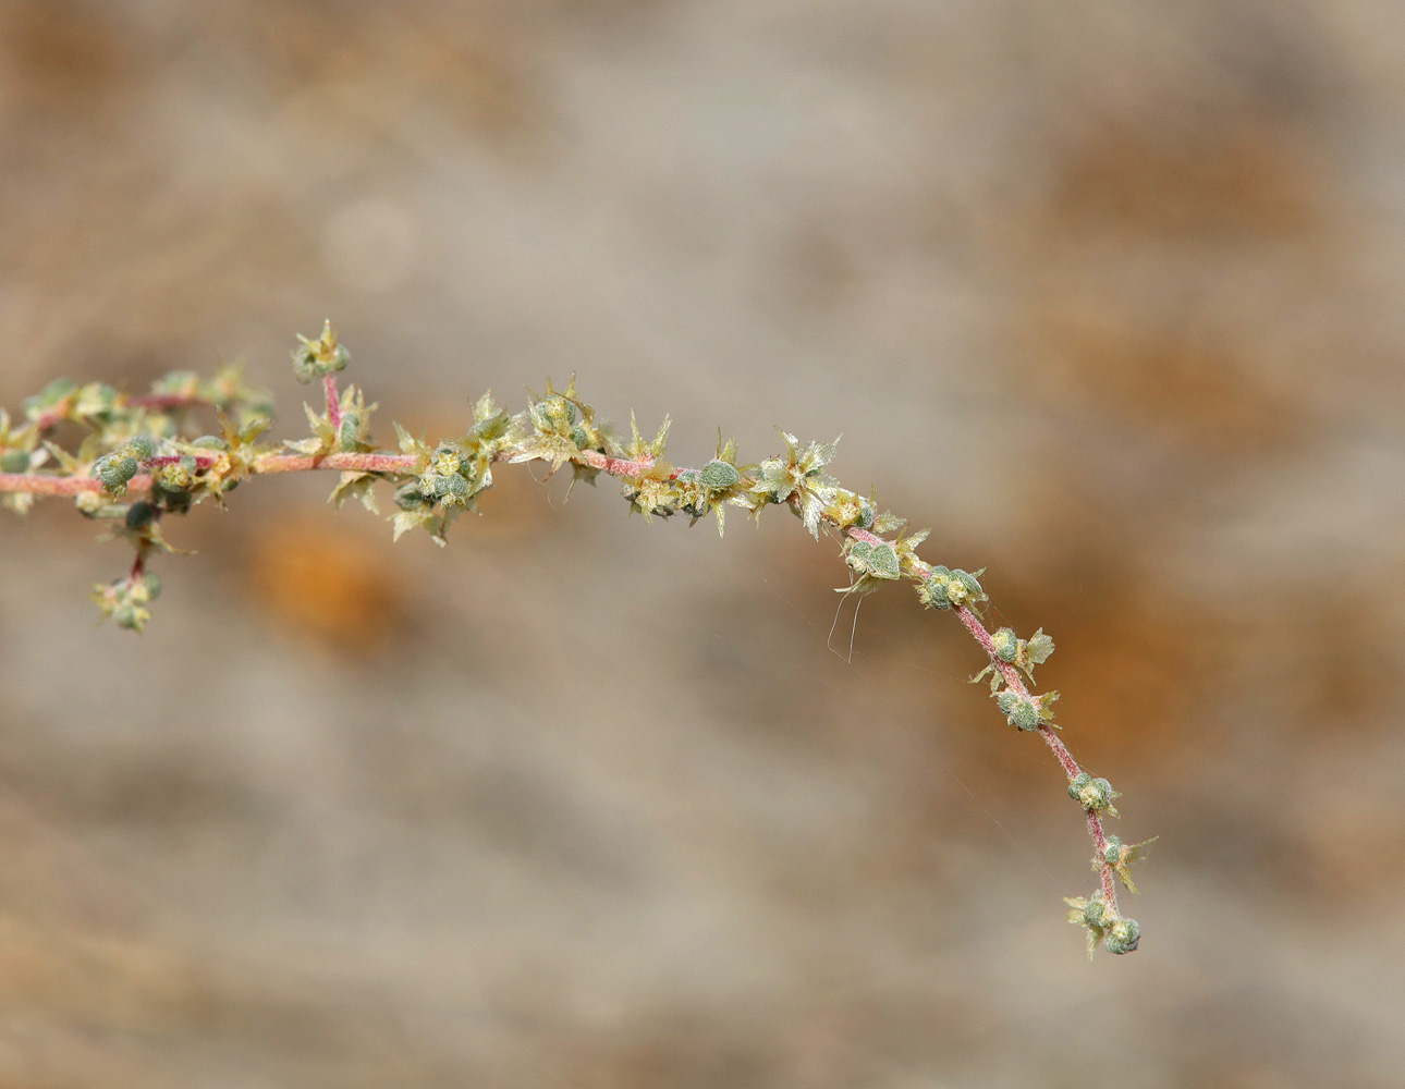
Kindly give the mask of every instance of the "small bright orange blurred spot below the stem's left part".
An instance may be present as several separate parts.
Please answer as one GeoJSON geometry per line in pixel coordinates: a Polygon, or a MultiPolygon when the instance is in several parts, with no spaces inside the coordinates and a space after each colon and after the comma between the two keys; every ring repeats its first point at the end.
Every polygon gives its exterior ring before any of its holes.
{"type": "Polygon", "coordinates": [[[251,575],[280,622],[337,646],[370,651],[399,627],[399,585],[385,555],[325,516],[268,521],[254,541],[251,575]]]}

